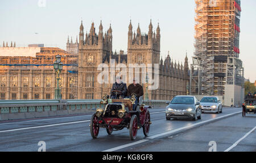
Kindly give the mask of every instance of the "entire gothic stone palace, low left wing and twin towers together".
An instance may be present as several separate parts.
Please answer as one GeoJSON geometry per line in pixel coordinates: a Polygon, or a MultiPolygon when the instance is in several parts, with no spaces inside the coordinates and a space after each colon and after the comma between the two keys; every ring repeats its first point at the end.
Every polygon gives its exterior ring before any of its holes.
{"type": "MultiPolygon", "coordinates": [[[[61,56],[63,71],[60,73],[59,86],[62,99],[101,99],[110,94],[112,83],[97,81],[98,65],[111,66],[110,61],[128,67],[129,64],[159,65],[159,86],[155,90],[146,90],[148,99],[171,100],[175,95],[186,95],[189,83],[187,55],[184,65],[174,63],[170,55],[160,58],[160,27],[153,31],[150,20],[148,33],[144,34],[138,25],[133,32],[130,21],[128,27],[127,54],[112,50],[112,27],[103,31],[102,23],[98,32],[94,23],[89,33],[84,33],[84,24],[80,25],[79,39],[67,41],[67,50],[60,48],[29,45],[15,47],[3,43],[0,47],[0,100],[7,99],[54,99],[56,74],[53,69],[55,56],[61,56]]],[[[40,44],[41,45],[41,44],[40,44]]],[[[111,69],[111,67],[109,68],[111,69]]],[[[118,71],[115,70],[114,74],[118,71]]],[[[154,72],[153,72],[154,73],[154,72]]],[[[154,77],[154,74],[152,74],[154,77]]],[[[130,78],[130,76],[129,76],[130,78]]],[[[129,85],[128,78],[124,81],[129,85]]]]}

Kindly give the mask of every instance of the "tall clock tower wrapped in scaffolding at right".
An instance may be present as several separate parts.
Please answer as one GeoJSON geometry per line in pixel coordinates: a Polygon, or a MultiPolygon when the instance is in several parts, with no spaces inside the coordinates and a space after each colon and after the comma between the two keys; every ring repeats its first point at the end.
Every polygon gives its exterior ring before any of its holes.
{"type": "Polygon", "coordinates": [[[240,53],[240,0],[195,2],[191,94],[224,95],[228,57],[239,57],[240,53]]]}

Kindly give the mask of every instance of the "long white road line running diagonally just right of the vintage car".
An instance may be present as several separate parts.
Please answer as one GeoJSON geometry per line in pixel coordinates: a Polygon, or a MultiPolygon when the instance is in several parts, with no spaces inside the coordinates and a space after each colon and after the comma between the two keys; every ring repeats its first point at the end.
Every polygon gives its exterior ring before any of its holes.
{"type": "Polygon", "coordinates": [[[182,130],[182,129],[195,127],[195,126],[197,126],[197,125],[199,125],[199,124],[207,123],[207,122],[210,122],[210,121],[213,121],[213,120],[216,120],[216,119],[220,119],[220,118],[224,118],[224,117],[226,117],[226,116],[238,114],[238,113],[240,113],[240,112],[242,112],[242,111],[238,111],[238,112],[234,112],[234,113],[232,113],[232,114],[220,116],[220,117],[218,117],[218,118],[213,118],[213,119],[205,120],[205,121],[203,121],[203,122],[191,124],[190,126],[185,126],[185,127],[181,127],[181,128],[176,128],[176,129],[171,130],[171,131],[167,131],[167,132],[159,133],[159,134],[154,135],[154,136],[147,137],[147,139],[143,139],[144,141],[143,141],[143,140],[139,140],[139,141],[136,141],[136,142],[134,142],[134,143],[129,143],[129,144],[121,145],[121,146],[118,146],[118,147],[110,148],[110,149],[107,149],[107,150],[102,151],[102,152],[113,152],[113,151],[117,151],[117,150],[122,149],[122,148],[126,148],[126,147],[130,147],[130,146],[132,146],[132,145],[136,145],[136,144],[143,143],[143,142],[145,142],[145,141],[148,141],[149,139],[154,139],[154,138],[159,137],[159,136],[168,135],[168,134],[170,134],[170,133],[174,133],[174,132],[180,131],[180,130],[182,130]]]}

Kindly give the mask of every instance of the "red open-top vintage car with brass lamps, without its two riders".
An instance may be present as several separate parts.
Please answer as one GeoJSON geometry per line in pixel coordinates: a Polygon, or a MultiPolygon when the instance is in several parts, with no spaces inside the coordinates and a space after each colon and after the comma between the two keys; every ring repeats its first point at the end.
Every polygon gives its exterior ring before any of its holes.
{"type": "Polygon", "coordinates": [[[150,131],[150,112],[143,104],[143,97],[139,98],[137,109],[133,111],[135,95],[125,99],[109,99],[104,96],[101,103],[104,103],[105,108],[97,108],[96,112],[90,119],[90,133],[93,139],[96,139],[100,128],[106,128],[109,135],[113,131],[118,131],[123,128],[128,128],[130,139],[135,140],[137,131],[143,128],[143,133],[148,136],[150,131]]]}

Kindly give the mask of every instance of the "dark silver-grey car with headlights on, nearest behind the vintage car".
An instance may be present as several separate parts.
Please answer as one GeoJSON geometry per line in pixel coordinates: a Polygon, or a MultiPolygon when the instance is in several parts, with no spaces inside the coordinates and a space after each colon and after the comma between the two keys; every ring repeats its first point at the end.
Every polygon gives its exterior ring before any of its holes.
{"type": "Polygon", "coordinates": [[[201,119],[201,106],[196,97],[189,95],[175,96],[166,107],[166,119],[192,118],[201,119]]]}

